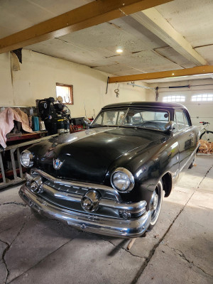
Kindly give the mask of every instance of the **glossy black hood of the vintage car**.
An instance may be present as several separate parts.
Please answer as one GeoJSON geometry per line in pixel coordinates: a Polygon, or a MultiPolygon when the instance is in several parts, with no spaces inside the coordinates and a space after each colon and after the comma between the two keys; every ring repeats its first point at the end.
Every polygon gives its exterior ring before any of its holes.
{"type": "Polygon", "coordinates": [[[165,141],[165,134],[148,129],[100,127],[62,134],[29,149],[35,166],[55,178],[103,183],[107,169],[121,155],[165,141]],[[53,159],[62,162],[55,170],[53,159]]]}

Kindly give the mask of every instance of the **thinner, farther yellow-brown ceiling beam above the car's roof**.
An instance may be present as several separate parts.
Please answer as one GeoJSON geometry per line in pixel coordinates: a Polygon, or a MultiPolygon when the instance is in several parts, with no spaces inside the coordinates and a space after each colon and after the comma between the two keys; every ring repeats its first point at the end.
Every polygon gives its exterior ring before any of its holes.
{"type": "Polygon", "coordinates": [[[193,68],[180,69],[180,70],[170,70],[162,72],[110,77],[109,83],[154,80],[154,79],[173,78],[173,77],[210,74],[210,73],[213,73],[213,65],[197,66],[193,68]]]}

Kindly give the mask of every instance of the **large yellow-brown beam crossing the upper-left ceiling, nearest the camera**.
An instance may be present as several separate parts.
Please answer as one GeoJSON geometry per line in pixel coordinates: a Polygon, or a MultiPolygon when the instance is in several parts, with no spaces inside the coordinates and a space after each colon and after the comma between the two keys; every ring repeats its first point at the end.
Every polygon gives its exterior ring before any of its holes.
{"type": "MultiPolygon", "coordinates": [[[[121,18],[173,0],[96,0],[0,39],[0,53],[121,18]]],[[[60,1],[59,1],[60,2],[60,1]]]]}

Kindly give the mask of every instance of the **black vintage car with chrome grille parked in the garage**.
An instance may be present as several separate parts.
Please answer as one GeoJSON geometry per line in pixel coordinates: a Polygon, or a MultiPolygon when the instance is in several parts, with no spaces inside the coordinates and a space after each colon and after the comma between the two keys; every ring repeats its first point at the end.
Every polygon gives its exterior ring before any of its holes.
{"type": "Polygon", "coordinates": [[[97,234],[137,237],[158,220],[199,143],[181,104],[103,107],[88,129],[21,153],[29,168],[19,195],[34,212],[97,234]]]}

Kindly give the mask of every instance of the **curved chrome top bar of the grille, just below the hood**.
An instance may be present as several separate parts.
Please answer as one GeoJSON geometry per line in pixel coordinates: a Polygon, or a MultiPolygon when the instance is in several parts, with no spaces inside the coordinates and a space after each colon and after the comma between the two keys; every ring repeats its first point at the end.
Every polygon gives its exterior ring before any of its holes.
{"type": "Polygon", "coordinates": [[[114,188],[108,187],[106,185],[97,185],[97,184],[89,183],[89,182],[74,182],[70,180],[60,180],[58,178],[52,177],[52,175],[48,175],[48,173],[43,172],[43,170],[38,170],[38,169],[32,169],[31,175],[33,175],[33,173],[41,175],[43,178],[46,178],[47,180],[50,180],[51,182],[54,182],[55,184],[82,187],[85,190],[99,190],[103,195],[104,195],[104,192],[107,191],[113,194],[116,197],[116,200],[121,201],[119,192],[114,190],[114,188]]]}

